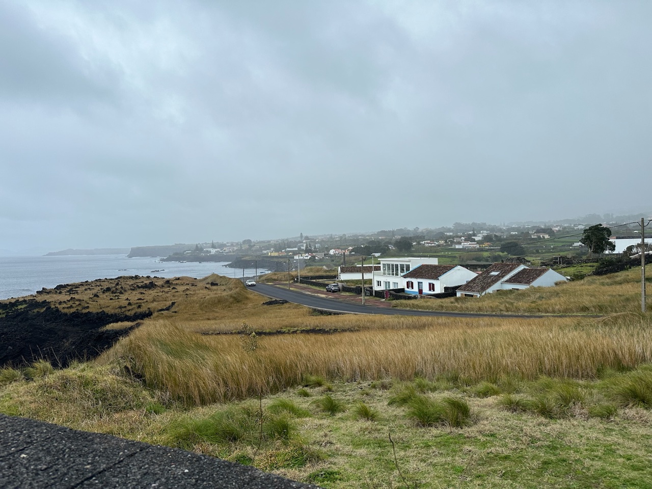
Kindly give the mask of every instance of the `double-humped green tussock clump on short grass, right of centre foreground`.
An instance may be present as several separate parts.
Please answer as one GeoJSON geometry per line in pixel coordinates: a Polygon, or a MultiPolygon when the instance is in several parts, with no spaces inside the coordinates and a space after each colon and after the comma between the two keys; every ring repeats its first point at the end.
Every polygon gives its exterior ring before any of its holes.
{"type": "Polygon", "coordinates": [[[409,400],[407,415],[418,426],[441,424],[461,428],[471,421],[471,407],[464,399],[458,397],[434,400],[428,396],[417,395],[409,400]]]}

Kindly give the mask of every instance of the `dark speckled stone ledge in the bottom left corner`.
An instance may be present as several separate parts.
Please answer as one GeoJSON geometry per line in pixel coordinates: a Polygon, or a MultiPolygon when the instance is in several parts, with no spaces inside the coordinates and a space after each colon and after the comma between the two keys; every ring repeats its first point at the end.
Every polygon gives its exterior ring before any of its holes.
{"type": "Polygon", "coordinates": [[[0,488],[294,489],[219,458],[0,414],[0,488]]]}

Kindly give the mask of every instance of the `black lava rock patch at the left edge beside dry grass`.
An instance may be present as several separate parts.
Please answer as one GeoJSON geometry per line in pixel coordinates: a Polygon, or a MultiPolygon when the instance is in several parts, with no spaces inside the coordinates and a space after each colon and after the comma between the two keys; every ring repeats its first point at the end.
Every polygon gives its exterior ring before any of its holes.
{"type": "Polygon", "coordinates": [[[150,310],[136,314],[63,312],[36,299],[0,303],[0,366],[25,366],[46,359],[53,366],[66,367],[74,359],[93,359],[138,327],[136,321],[151,315],[150,310]],[[118,322],[134,324],[102,330],[118,322]]]}

